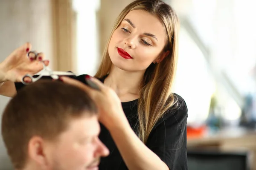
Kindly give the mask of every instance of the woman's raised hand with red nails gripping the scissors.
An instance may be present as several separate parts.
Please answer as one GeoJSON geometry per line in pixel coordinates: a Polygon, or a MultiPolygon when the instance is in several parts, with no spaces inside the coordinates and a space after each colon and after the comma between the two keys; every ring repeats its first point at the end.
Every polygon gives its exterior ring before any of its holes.
{"type": "MultiPolygon", "coordinates": [[[[26,74],[34,75],[41,71],[44,67],[42,61],[47,66],[49,60],[44,61],[44,54],[39,53],[38,57],[27,57],[27,53],[31,51],[32,45],[26,43],[15,49],[3,62],[0,63],[0,71],[4,74],[0,82],[12,81],[21,82],[26,74]]],[[[31,81],[30,78],[25,78],[25,82],[31,81]]]]}

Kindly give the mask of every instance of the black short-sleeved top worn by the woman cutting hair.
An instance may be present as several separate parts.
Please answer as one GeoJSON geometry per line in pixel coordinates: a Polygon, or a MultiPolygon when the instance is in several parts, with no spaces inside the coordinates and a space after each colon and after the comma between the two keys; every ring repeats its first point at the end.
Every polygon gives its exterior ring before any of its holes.
{"type": "MultiPolygon", "coordinates": [[[[84,75],[76,77],[84,82],[84,75]]],[[[104,82],[104,79],[101,80],[104,82]]],[[[15,83],[17,91],[23,86],[22,83],[15,83]]],[[[179,107],[170,109],[151,131],[146,146],[164,161],[170,170],[187,170],[187,147],[186,147],[186,122],[187,107],[184,99],[178,97],[179,107]]],[[[137,100],[122,102],[125,115],[137,134],[137,100]]],[[[110,155],[102,158],[99,170],[128,170],[123,161],[109,131],[101,124],[99,139],[108,147],[110,155]]]]}

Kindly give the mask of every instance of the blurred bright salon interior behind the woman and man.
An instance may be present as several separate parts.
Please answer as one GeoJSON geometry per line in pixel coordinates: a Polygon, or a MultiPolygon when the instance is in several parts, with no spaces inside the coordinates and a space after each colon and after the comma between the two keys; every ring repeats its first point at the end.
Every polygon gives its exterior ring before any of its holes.
{"type": "MultiPolygon", "coordinates": [[[[30,42],[53,70],[94,75],[116,17],[132,1],[0,0],[0,62],[30,42]]],[[[256,2],[164,1],[180,19],[173,91],[188,106],[189,169],[256,170],[256,2]]],[[[0,96],[0,113],[8,101],[0,96]]],[[[8,169],[0,138],[0,170],[8,169]]]]}

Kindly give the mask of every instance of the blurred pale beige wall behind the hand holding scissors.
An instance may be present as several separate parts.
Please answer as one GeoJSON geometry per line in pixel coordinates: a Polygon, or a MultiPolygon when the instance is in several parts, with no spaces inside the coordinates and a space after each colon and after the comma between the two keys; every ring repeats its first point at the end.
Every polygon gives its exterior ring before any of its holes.
{"type": "MultiPolygon", "coordinates": [[[[0,1],[0,62],[25,42],[31,42],[33,49],[44,51],[51,59],[51,10],[51,0],[0,1]]],[[[0,96],[0,117],[8,101],[9,98],[0,96]]],[[[11,167],[0,137],[0,170],[11,167]]]]}

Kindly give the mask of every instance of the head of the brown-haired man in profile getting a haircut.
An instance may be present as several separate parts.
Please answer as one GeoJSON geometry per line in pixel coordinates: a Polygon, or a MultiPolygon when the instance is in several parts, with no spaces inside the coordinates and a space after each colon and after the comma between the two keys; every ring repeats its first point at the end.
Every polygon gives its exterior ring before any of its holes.
{"type": "Polygon", "coordinates": [[[81,89],[40,80],[18,91],[2,117],[15,169],[84,170],[109,151],[99,140],[95,103],[81,89]]]}

